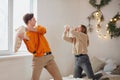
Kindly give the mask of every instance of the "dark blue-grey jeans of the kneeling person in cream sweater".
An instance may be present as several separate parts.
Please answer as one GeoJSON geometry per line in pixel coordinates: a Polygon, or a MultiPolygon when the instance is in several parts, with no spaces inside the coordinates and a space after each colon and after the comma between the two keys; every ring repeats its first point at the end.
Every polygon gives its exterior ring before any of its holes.
{"type": "Polygon", "coordinates": [[[74,78],[82,78],[82,71],[85,71],[88,78],[93,80],[99,80],[102,74],[97,74],[96,76],[93,73],[92,66],[87,54],[80,54],[75,56],[75,68],[74,68],[74,78]]]}

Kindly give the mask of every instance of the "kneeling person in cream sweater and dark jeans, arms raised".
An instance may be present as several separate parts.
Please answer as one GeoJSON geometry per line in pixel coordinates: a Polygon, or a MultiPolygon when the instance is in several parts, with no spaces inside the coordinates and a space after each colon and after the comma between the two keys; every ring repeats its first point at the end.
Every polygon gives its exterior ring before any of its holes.
{"type": "Polygon", "coordinates": [[[87,54],[89,37],[87,35],[86,26],[79,25],[76,28],[65,26],[63,40],[70,42],[73,45],[72,53],[75,56],[74,78],[82,78],[82,71],[84,70],[88,78],[99,80],[102,74],[97,76],[94,75],[89,56],[87,54]],[[69,34],[71,34],[71,36],[69,34]]]}

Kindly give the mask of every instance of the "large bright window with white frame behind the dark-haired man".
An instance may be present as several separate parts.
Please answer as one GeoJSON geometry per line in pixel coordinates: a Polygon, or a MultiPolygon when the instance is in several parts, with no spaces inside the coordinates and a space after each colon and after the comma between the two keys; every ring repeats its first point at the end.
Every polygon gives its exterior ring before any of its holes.
{"type": "MultiPolygon", "coordinates": [[[[25,25],[22,18],[29,12],[36,16],[37,0],[0,0],[0,54],[13,52],[15,29],[25,25]]],[[[19,51],[25,50],[22,44],[19,51]]]]}

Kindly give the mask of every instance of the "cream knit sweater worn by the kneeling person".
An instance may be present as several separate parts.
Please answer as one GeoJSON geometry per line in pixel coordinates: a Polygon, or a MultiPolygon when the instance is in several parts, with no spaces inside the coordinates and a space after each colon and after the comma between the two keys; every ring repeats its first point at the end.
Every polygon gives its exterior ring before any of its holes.
{"type": "Polygon", "coordinates": [[[72,29],[70,32],[63,33],[63,39],[73,44],[72,53],[74,55],[87,54],[87,46],[89,45],[88,35],[82,32],[77,32],[72,29]],[[74,37],[70,37],[71,33],[74,37]]]}

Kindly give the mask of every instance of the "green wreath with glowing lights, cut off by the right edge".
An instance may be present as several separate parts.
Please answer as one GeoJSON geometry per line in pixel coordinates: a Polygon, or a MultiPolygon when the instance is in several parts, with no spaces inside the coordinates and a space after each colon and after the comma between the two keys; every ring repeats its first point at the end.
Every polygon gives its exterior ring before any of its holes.
{"type": "Polygon", "coordinates": [[[116,22],[120,20],[120,14],[117,13],[108,23],[107,30],[110,33],[111,38],[116,38],[120,36],[120,26],[116,26],[116,22]]]}

